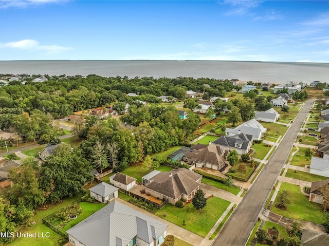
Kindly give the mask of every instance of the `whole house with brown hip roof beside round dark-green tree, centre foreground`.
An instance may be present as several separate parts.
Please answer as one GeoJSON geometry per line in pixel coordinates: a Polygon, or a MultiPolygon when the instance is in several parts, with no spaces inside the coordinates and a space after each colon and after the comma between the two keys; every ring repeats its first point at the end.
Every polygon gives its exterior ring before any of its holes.
{"type": "Polygon", "coordinates": [[[149,179],[145,192],[160,199],[168,199],[175,204],[180,199],[191,200],[199,190],[202,175],[186,168],[173,169],[171,172],[161,172],[149,179]]]}

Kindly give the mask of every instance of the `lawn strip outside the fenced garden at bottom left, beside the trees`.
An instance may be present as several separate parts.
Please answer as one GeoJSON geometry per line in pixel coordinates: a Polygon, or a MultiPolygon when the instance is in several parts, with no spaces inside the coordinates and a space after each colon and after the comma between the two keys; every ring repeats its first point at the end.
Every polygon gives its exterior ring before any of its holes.
{"type": "Polygon", "coordinates": [[[65,198],[61,204],[58,205],[52,205],[48,204],[50,206],[50,209],[46,211],[40,211],[36,209],[36,215],[32,217],[32,221],[35,221],[36,224],[27,226],[24,230],[21,230],[22,233],[34,233],[34,232],[40,232],[45,233],[49,232],[50,237],[49,238],[16,238],[12,243],[9,243],[7,245],[10,246],[21,246],[21,245],[33,245],[33,246],[58,246],[58,240],[62,237],[58,235],[57,233],[53,232],[50,228],[48,228],[46,225],[42,223],[42,219],[60,209],[62,207],[72,203],[73,201],[81,198],[81,195],[77,195],[75,197],[65,198]]]}

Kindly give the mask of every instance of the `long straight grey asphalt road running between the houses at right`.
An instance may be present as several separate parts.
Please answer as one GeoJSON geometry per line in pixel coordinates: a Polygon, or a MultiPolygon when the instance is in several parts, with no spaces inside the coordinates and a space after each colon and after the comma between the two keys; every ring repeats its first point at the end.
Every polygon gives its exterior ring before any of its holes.
{"type": "Polygon", "coordinates": [[[307,116],[312,103],[315,100],[308,100],[280,145],[270,157],[257,180],[249,188],[243,200],[236,207],[223,230],[214,240],[213,246],[244,246],[258,219],[259,213],[269,196],[271,188],[275,184],[281,169],[290,153],[297,134],[307,116]]]}

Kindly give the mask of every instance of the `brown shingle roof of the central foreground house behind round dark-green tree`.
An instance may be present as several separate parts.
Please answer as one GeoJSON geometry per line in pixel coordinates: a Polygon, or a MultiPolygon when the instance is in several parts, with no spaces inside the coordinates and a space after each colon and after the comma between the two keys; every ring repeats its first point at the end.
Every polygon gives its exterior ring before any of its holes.
{"type": "Polygon", "coordinates": [[[186,168],[174,169],[171,173],[161,172],[154,176],[145,188],[176,199],[181,194],[190,195],[200,185],[197,181],[202,175],[186,168]]]}

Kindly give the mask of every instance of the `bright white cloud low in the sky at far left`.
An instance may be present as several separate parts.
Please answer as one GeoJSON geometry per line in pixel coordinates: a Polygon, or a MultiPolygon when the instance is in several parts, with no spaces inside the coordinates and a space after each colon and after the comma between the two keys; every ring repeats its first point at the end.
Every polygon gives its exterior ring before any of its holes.
{"type": "Polygon", "coordinates": [[[16,42],[0,43],[0,48],[12,48],[31,51],[42,50],[50,53],[58,53],[73,49],[72,47],[59,45],[40,45],[40,43],[35,40],[20,40],[16,42]]]}

